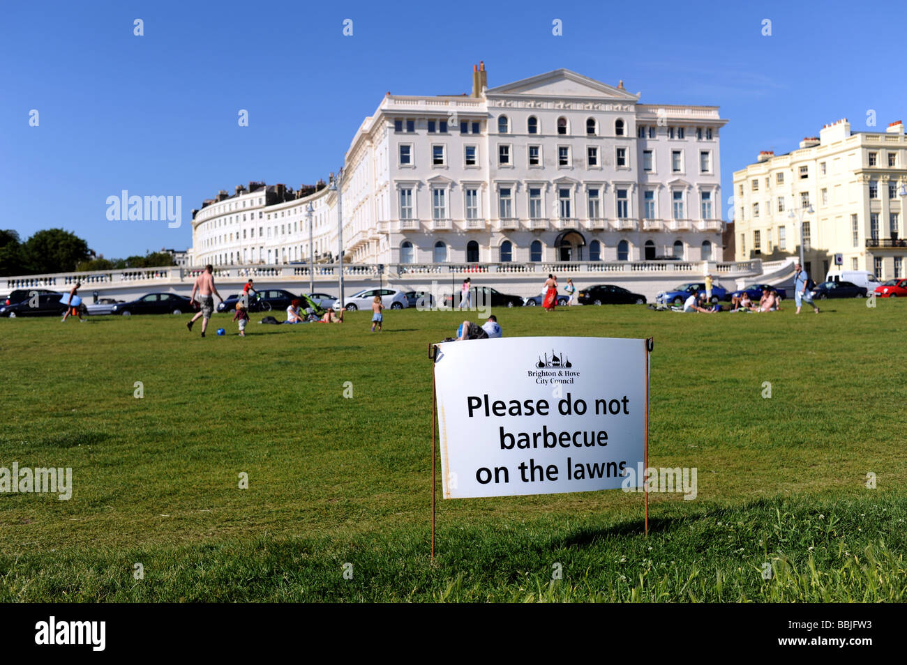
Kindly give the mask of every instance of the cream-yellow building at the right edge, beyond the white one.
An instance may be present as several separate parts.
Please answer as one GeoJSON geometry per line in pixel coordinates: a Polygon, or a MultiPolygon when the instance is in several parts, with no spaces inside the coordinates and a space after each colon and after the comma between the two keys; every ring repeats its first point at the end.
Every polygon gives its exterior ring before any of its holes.
{"type": "Polygon", "coordinates": [[[784,155],[763,151],[734,173],[736,260],[798,255],[817,282],[836,266],[904,276],[907,190],[903,123],[853,132],[847,120],[784,155]],[[813,212],[805,212],[812,207],[813,212]],[[803,229],[799,219],[802,213],[803,229]]]}

